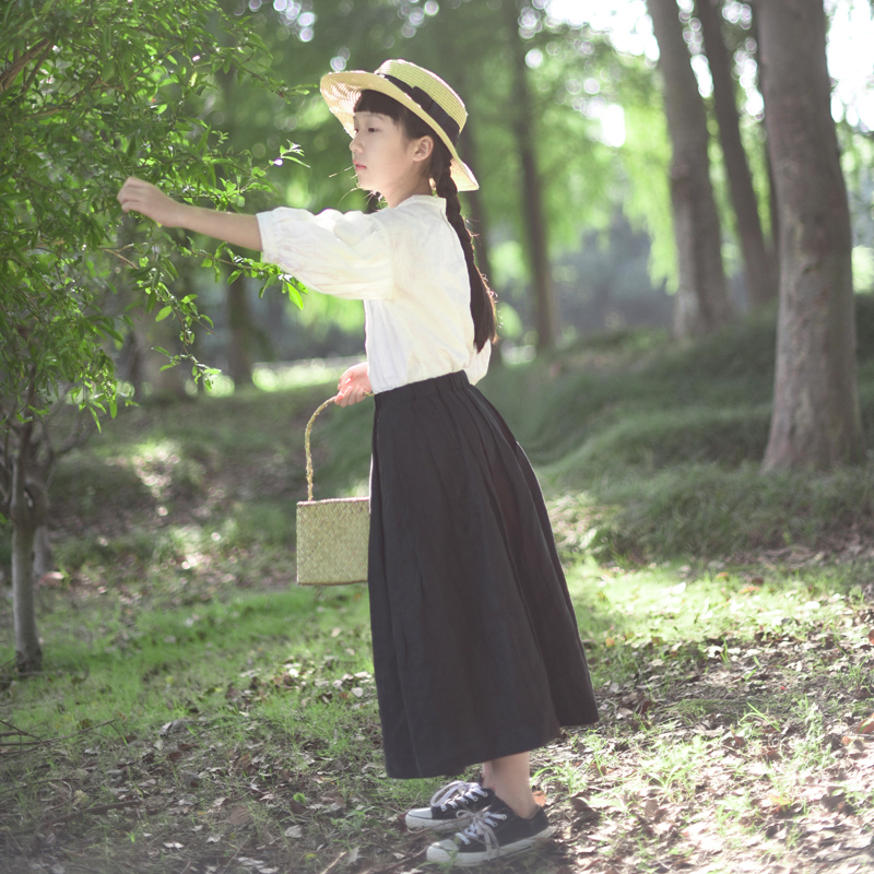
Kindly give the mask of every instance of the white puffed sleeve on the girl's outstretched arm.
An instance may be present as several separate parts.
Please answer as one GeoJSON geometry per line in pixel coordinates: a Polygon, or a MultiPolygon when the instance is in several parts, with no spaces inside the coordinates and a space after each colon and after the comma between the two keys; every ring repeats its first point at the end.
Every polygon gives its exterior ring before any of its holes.
{"type": "Polygon", "coordinates": [[[281,206],[258,213],[258,227],[264,260],[314,291],[355,300],[391,297],[391,246],[375,214],[281,206]]]}

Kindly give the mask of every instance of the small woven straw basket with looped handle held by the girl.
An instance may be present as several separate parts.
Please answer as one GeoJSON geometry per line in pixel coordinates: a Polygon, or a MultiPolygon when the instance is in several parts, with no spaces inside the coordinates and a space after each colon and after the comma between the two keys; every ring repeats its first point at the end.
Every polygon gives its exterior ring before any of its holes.
{"type": "Polygon", "coordinates": [[[300,586],[367,582],[370,498],[312,500],[309,434],[316,416],[333,400],[329,398],[312,414],[306,429],[308,499],[297,503],[297,582],[300,586]]]}

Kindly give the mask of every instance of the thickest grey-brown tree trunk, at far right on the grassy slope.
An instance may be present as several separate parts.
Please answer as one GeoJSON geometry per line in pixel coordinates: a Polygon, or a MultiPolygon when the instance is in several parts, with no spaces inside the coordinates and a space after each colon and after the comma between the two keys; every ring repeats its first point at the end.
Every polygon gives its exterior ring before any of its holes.
{"type": "Polygon", "coordinates": [[[773,413],[764,470],[864,458],[852,237],[826,63],[823,0],[757,3],[780,227],[773,413]]]}

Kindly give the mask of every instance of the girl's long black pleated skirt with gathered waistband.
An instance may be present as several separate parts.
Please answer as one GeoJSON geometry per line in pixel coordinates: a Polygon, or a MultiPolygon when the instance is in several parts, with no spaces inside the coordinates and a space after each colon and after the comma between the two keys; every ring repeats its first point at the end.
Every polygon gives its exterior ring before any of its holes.
{"type": "Polygon", "coordinates": [[[370,480],[388,775],[457,775],[597,722],[540,486],[464,373],[376,395],[370,480]]]}

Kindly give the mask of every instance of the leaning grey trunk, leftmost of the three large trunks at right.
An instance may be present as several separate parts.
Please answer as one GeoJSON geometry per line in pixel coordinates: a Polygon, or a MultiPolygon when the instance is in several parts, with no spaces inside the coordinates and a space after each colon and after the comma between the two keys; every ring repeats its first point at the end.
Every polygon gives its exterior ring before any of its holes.
{"type": "Polygon", "coordinates": [[[732,307],[710,184],[707,115],[683,38],[676,0],[647,0],[647,5],[659,43],[664,111],[673,147],[671,206],[680,274],[674,331],[680,338],[688,338],[730,321],[732,307]]]}

